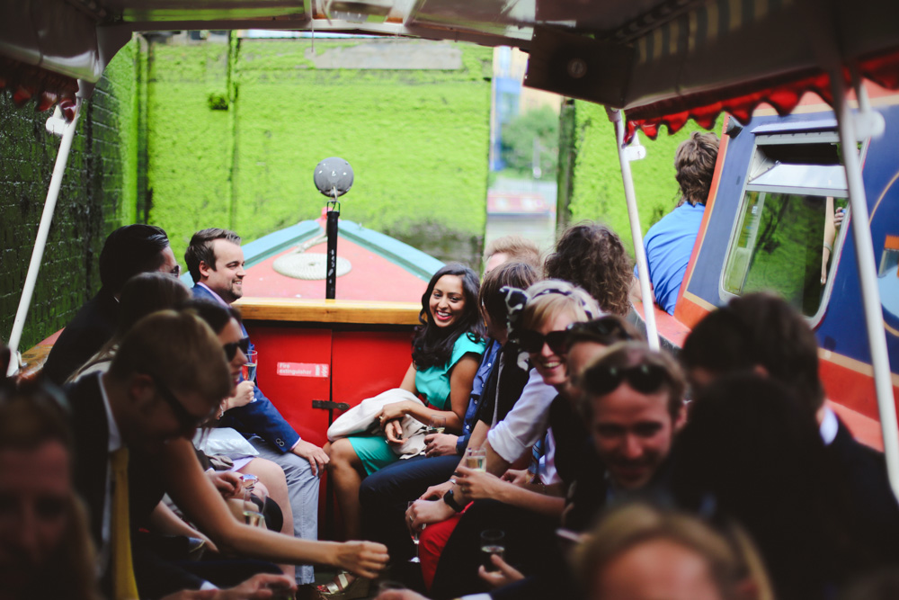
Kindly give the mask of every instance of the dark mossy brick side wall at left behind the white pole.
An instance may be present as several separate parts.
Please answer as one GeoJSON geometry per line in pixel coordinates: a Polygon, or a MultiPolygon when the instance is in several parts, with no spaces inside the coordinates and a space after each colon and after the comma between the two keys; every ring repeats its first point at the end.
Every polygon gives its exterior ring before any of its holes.
{"type": "MultiPolygon", "coordinates": [[[[100,288],[97,258],[112,229],[135,219],[137,46],[113,58],[85,103],[49,230],[20,349],[64,327],[100,288]]],[[[31,260],[59,139],[51,112],[0,92],[0,338],[8,339],[31,260]]]]}

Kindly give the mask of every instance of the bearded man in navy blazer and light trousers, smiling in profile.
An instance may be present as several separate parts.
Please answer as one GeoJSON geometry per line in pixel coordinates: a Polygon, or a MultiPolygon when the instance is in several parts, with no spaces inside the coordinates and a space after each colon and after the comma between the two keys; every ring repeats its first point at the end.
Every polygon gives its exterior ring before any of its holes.
{"type": "MultiPolygon", "coordinates": [[[[193,278],[194,296],[230,305],[244,295],[244,251],[240,242],[236,233],[220,228],[203,229],[191,237],[184,260],[193,278]]],[[[245,434],[262,458],[280,465],[287,479],[294,534],[316,540],[318,474],[329,461],[328,455],[316,444],[300,439],[254,382],[243,381],[238,385],[237,397],[241,396],[243,400],[230,404],[242,403],[242,406],[227,410],[220,425],[245,434]]],[[[297,569],[298,584],[314,580],[311,566],[297,569]]]]}

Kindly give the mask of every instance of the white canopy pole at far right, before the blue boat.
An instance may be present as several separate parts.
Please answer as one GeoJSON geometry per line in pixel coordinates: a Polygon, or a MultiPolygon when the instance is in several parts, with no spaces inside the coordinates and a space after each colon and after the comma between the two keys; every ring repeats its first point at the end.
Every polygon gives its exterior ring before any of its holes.
{"type": "Polygon", "coordinates": [[[899,431],[896,425],[893,381],[890,372],[889,355],[886,352],[886,330],[884,315],[877,290],[877,265],[874,261],[874,242],[868,216],[868,199],[861,180],[861,163],[855,151],[857,139],[855,120],[846,102],[846,89],[841,69],[833,69],[833,110],[840,128],[843,148],[843,166],[846,169],[846,183],[849,187],[850,220],[852,235],[855,236],[855,259],[859,265],[861,300],[865,311],[865,325],[868,329],[868,345],[871,351],[871,365],[874,367],[874,387],[877,391],[877,409],[880,413],[880,428],[884,436],[886,473],[890,479],[893,494],[899,498],[899,431]]]}

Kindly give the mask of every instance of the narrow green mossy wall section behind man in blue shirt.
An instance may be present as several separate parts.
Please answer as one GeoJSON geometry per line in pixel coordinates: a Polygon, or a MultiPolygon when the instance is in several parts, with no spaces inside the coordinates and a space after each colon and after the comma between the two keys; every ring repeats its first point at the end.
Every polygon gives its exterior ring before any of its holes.
{"type": "MultiPolygon", "coordinates": [[[[630,166],[644,235],[677,203],[674,151],[696,130],[701,129],[689,121],[674,135],[663,130],[655,140],[640,136],[646,157],[630,166]]],[[[720,133],[717,127],[713,131],[720,133]]],[[[562,145],[559,152],[563,166],[559,177],[560,214],[565,214],[564,203],[568,198],[571,222],[595,219],[606,223],[619,234],[633,255],[615,134],[605,108],[580,101],[568,103],[563,112],[562,145]],[[568,169],[565,169],[566,165],[568,169]]]]}

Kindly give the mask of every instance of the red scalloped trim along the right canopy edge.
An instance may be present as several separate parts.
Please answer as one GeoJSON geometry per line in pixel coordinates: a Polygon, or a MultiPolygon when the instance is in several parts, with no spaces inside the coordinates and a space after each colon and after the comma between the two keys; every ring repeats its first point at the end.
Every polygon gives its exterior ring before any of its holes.
{"type": "MultiPolygon", "coordinates": [[[[899,89],[899,50],[860,60],[859,73],[886,89],[899,89]]],[[[848,71],[846,81],[850,81],[848,71]]],[[[668,128],[669,134],[676,133],[690,119],[696,121],[699,127],[710,130],[722,112],[746,124],[761,103],[770,104],[783,116],[797,107],[806,92],[814,92],[825,103],[833,105],[831,78],[826,73],[794,73],[779,77],[779,80],[766,80],[764,86],[757,89],[759,85],[757,81],[734,85],[724,90],[689,94],[630,109],[626,112],[626,139],[630,141],[636,130],[642,130],[646,137],[656,139],[662,125],[668,128]]]]}

